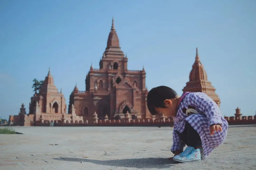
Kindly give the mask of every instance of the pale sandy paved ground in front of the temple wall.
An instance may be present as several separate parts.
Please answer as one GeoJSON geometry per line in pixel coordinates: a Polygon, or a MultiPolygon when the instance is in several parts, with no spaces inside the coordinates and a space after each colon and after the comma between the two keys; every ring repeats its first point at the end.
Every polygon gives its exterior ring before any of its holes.
{"type": "Polygon", "coordinates": [[[230,126],[225,143],[193,163],[167,160],[170,127],[13,128],[24,134],[0,135],[1,170],[256,169],[256,126],[230,126]]]}

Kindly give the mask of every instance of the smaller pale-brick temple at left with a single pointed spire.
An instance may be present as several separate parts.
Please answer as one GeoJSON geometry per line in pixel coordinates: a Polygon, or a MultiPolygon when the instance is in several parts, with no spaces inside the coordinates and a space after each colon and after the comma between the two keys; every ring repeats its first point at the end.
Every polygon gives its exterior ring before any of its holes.
{"type": "Polygon", "coordinates": [[[26,114],[22,103],[18,115],[9,117],[10,125],[37,126],[49,122],[82,122],[83,118],[75,115],[75,109],[71,109],[70,114],[66,114],[66,100],[61,90],[58,91],[54,85],[54,79],[49,68],[44,84],[37,93],[31,97],[29,103],[29,113],[26,114]]]}

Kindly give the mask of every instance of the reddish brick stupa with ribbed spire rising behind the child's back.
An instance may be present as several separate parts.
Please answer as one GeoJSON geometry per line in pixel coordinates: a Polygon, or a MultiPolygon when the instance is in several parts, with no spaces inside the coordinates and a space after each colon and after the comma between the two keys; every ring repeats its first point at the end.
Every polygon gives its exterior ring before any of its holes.
{"type": "Polygon", "coordinates": [[[215,90],[216,89],[212,86],[211,82],[207,79],[206,71],[199,58],[198,49],[196,48],[195,62],[190,71],[189,82],[186,83],[186,86],[182,91],[183,93],[204,92],[219,106],[221,102],[219,96],[215,93],[215,90]]]}

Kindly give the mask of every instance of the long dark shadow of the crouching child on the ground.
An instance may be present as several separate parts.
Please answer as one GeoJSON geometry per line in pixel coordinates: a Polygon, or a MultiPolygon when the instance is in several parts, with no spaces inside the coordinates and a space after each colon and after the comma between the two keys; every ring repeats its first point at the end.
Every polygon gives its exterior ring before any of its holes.
{"type": "Polygon", "coordinates": [[[117,160],[91,160],[91,159],[79,159],[73,157],[54,158],[59,161],[72,161],[72,162],[90,162],[98,165],[106,166],[121,166],[131,168],[167,168],[176,164],[175,161],[168,160],[167,158],[137,158],[137,159],[117,159],[117,160]]]}

